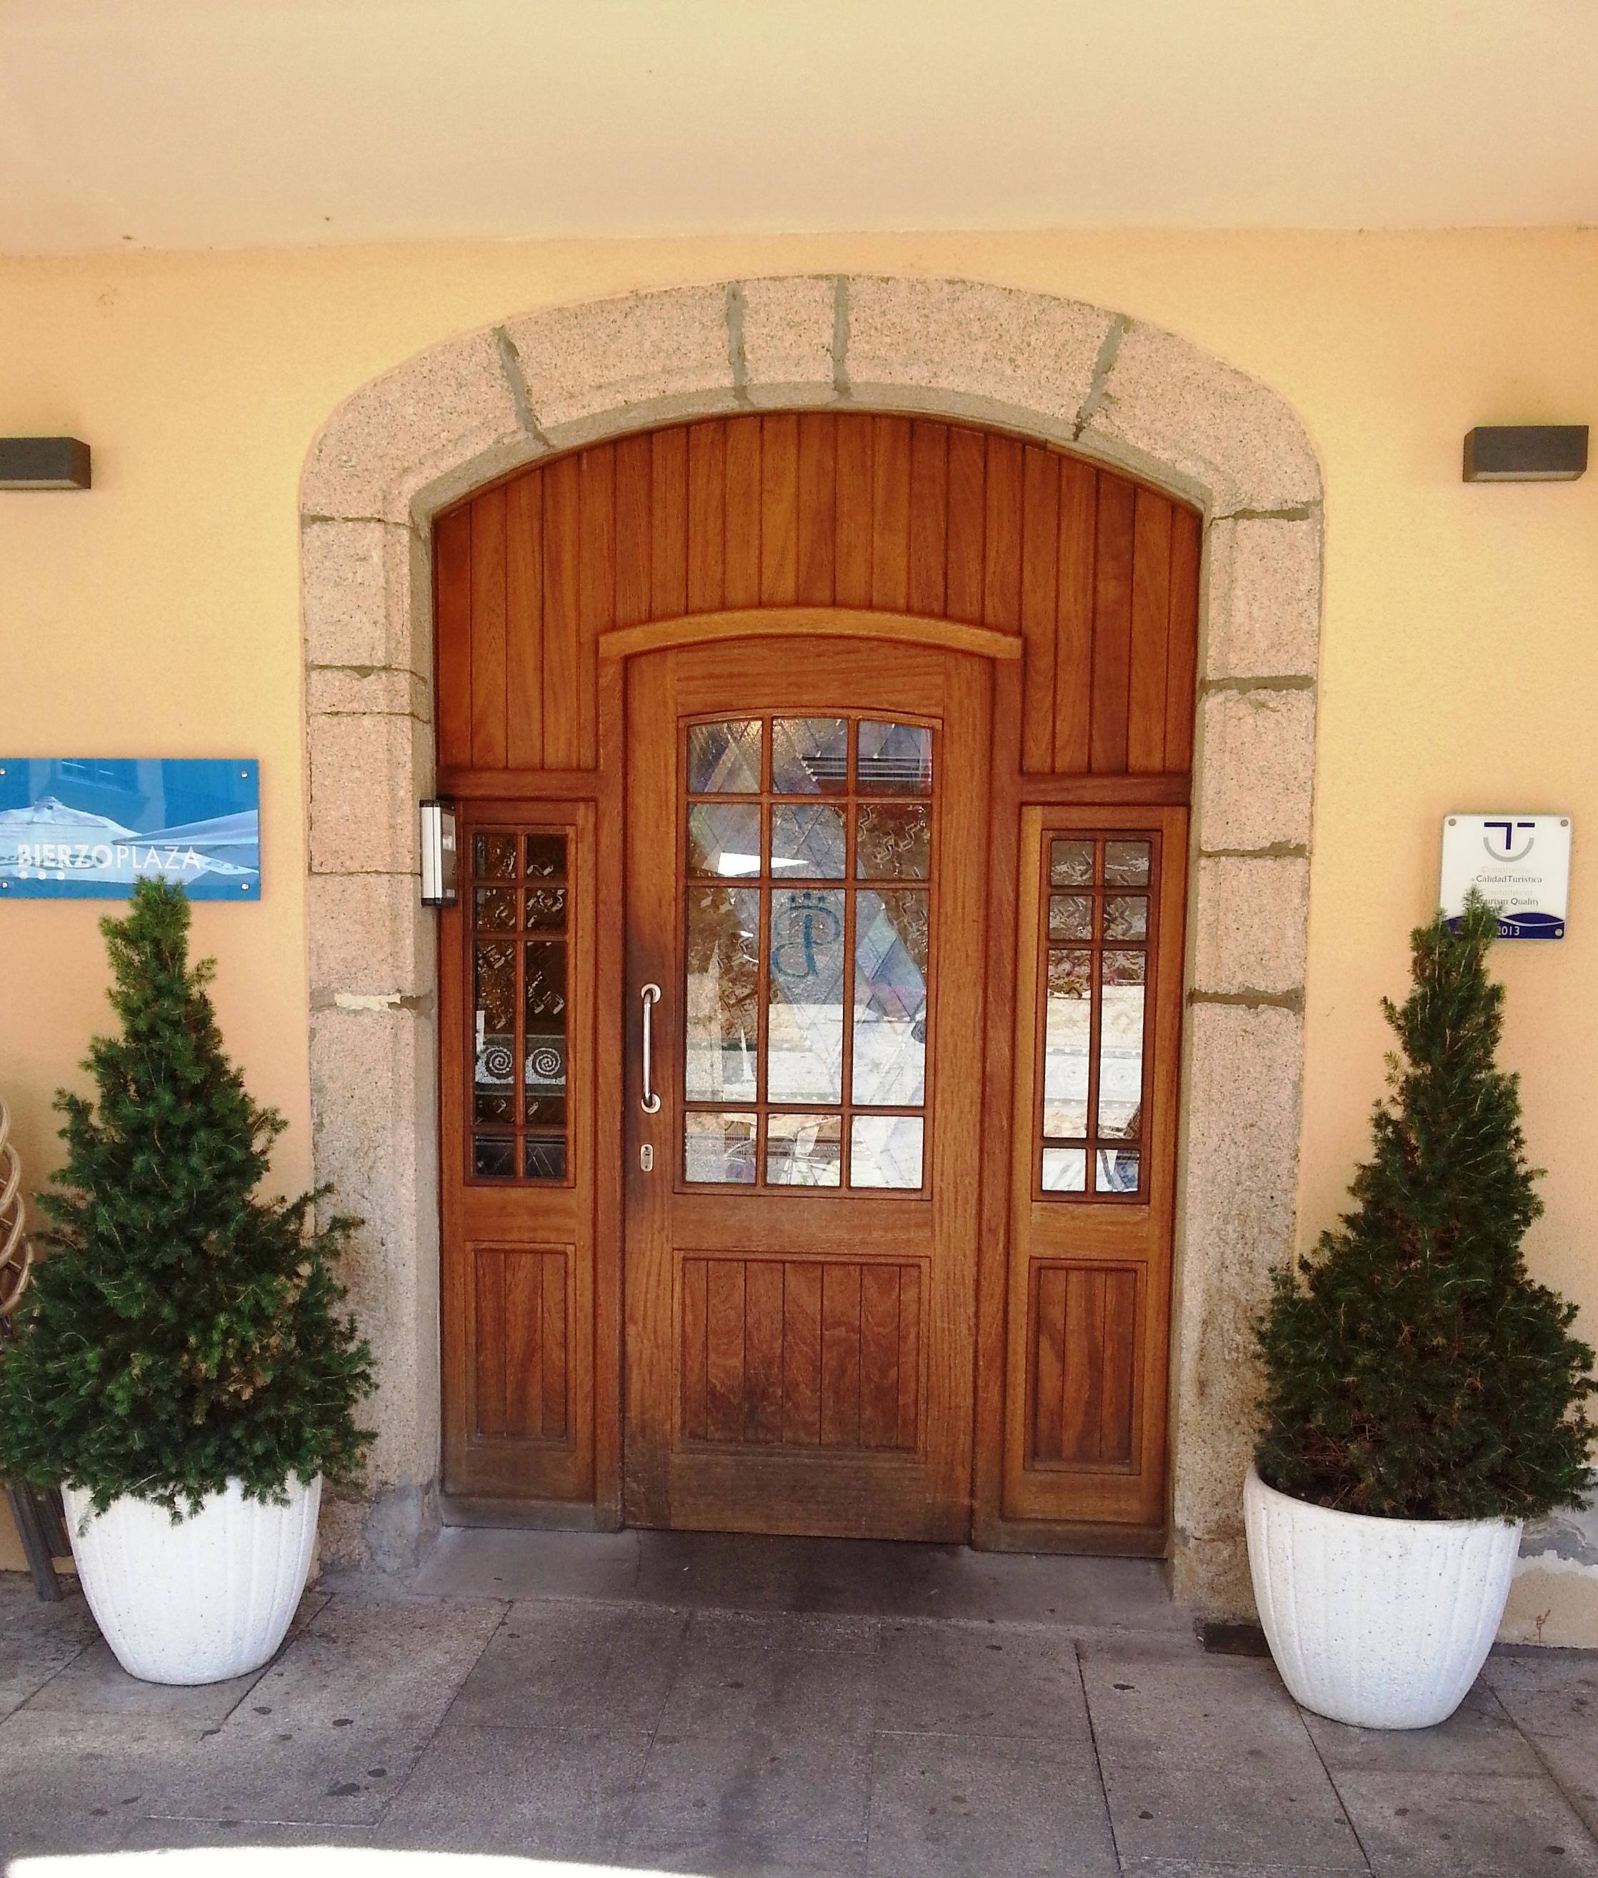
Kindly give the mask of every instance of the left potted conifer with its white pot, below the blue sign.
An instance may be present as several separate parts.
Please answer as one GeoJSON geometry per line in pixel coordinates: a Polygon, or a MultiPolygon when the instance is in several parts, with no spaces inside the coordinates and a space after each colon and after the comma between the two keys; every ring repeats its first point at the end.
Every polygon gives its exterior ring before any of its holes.
{"type": "Polygon", "coordinates": [[[257,1196],[285,1123],[222,1050],[180,888],[101,920],[120,1037],[60,1093],[49,1256],[0,1358],[0,1474],[62,1485],[90,1609],[154,1683],[214,1683],[282,1643],[321,1482],[351,1482],[370,1352],[332,1260],[355,1221],[257,1196]]]}

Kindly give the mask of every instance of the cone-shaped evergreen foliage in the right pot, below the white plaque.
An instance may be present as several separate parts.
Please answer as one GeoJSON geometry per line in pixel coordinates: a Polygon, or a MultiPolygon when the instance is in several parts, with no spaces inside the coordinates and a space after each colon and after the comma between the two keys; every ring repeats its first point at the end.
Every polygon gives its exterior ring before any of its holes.
{"type": "Polygon", "coordinates": [[[1397,1519],[1532,1519],[1583,1499],[1592,1350],[1575,1305],[1532,1283],[1542,1213],[1519,1078],[1495,1067],[1497,916],[1472,894],[1410,935],[1414,988],[1382,1010],[1403,1055],[1373,1116],[1354,1209],[1273,1275],[1256,1322],[1260,1478],[1397,1519]]]}

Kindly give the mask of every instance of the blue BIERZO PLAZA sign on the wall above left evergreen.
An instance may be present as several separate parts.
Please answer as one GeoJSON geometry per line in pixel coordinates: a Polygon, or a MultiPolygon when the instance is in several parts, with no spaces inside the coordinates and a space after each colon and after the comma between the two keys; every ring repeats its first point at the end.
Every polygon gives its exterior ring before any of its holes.
{"type": "Polygon", "coordinates": [[[261,898],[261,774],[248,761],[0,757],[0,900],[261,898]]]}

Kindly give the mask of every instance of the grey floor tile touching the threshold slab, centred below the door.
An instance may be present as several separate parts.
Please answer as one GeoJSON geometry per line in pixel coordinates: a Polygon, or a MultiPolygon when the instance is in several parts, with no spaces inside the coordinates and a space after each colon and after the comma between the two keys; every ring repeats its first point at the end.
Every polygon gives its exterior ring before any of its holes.
{"type": "Polygon", "coordinates": [[[875,1626],[849,1623],[819,1647],[826,1626],[806,1619],[697,1613],[661,1711],[674,1735],[819,1733],[864,1741],[877,1679],[875,1626]]]}

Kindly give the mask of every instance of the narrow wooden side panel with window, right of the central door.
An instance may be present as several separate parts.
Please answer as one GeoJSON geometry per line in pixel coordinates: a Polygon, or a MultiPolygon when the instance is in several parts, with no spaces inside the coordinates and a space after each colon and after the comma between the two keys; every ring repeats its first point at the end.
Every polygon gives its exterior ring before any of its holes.
{"type": "Polygon", "coordinates": [[[1003,1512],[1157,1551],[1187,809],[1027,808],[1020,854],[1003,1512]]]}

